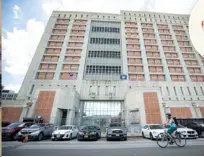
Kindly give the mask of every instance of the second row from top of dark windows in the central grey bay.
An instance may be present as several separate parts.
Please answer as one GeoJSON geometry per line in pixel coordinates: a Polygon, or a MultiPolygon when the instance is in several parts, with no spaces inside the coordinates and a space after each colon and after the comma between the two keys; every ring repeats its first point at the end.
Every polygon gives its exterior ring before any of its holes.
{"type": "Polygon", "coordinates": [[[120,39],[109,39],[109,38],[91,38],[91,44],[120,44],[120,39]]]}

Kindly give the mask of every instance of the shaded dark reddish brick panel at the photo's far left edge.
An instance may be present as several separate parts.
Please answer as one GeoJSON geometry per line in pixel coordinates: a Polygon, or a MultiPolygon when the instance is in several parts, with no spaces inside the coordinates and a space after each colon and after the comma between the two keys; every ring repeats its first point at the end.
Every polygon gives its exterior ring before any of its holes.
{"type": "Polygon", "coordinates": [[[18,122],[23,108],[21,107],[2,107],[3,122],[18,122]]]}

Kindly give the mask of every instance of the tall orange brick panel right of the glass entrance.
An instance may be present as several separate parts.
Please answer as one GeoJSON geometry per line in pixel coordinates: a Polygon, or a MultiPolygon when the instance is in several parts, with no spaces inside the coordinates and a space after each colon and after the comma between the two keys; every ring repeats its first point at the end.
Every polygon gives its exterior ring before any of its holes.
{"type": "Polygon", "coordinates": [[[156,92],[144,93],[147,124],[161,124],[161,114],[156,92]]]}

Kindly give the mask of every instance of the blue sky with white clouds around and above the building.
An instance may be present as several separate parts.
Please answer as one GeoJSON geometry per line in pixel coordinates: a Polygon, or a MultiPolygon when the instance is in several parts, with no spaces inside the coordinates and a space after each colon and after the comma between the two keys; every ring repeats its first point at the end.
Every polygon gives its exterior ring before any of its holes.
{"type": "MultiPolygon", "coordinates": [[[[154,0],[147,11],[190,14],[198,0],[154,0]]],[[[18,92],[53,10],[119,14],[145,0],[2,0],[2,85],[18,92]]]]}

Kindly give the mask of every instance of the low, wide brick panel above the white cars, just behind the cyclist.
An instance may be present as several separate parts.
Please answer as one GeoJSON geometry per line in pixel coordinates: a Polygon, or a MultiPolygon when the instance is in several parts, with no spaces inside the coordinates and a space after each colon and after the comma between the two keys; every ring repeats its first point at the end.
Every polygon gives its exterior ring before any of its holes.
{"type": "Polygon", "coordinates": [[[177,118],[192,118],[192,113],[189,107],[171,107],[171,114],[177,118]]]}

